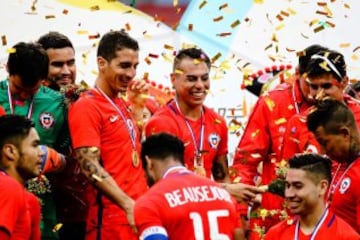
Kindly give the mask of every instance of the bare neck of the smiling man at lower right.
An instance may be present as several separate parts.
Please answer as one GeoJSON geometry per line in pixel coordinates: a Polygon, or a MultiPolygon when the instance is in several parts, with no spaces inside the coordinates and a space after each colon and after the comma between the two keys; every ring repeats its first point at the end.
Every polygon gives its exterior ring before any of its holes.
{"type": "Polygon", "coordinates": [[[326,211],[325,204],[318,204],[310,213],[306,215],[300,215],[300,229],[304,234],[310,234],[317,226],[321,218],[324,216],[326,211]]]}

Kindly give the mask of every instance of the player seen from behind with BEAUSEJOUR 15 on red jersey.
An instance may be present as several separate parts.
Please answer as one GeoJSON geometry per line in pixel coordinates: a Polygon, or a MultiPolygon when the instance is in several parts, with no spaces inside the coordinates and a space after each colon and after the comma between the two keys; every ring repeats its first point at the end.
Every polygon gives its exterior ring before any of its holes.
{"type": "Polygon", "coordinates": [[[142,144],[150,190],[135,204],[140,238],[234,239],[237,216],[230,194],[184,167],[184,143],[160,133],[142,144]]]}

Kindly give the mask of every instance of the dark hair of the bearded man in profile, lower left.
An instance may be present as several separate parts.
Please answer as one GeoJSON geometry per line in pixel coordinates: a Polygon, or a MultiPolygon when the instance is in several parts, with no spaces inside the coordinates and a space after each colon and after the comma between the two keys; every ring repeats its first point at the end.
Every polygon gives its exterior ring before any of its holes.
{"type": "Polygon", "coordinates": [[[0,117],[0,149],[11,143],[20,147],[20,143],[27,137],[30,129],[34,127],[33,121],[19,115],[3,115],[0,117]]]}

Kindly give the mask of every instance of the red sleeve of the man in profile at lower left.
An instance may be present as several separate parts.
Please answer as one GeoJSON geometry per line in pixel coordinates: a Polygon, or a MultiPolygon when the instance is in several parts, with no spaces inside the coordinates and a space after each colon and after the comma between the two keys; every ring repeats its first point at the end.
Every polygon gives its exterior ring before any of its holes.
{"type": "Polygon", "coordinates": [[[0,172],[0,229],[13,233],[17,218],[25,203],[24,190],[21,185],[9,176],[1,175],[0,172]]]}

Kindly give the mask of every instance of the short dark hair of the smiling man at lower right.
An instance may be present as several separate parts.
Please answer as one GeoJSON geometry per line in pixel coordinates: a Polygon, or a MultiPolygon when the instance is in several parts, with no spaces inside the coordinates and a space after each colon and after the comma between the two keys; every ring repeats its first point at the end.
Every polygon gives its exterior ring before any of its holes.
{"type": "Polygon", "coordinates": [[[295,154],[288,163],[290,169],[302,169],[310,173],[309,177],[315,183],[321,179],[331,182],[331,160],[327,157],[314,153],[295,154]]]}

